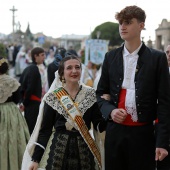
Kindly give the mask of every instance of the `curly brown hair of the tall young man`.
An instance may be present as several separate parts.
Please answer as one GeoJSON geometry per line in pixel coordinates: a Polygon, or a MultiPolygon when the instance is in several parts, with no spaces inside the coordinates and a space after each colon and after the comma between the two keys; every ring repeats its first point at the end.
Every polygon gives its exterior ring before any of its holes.
{"type": "Polygon", "coordinates": [[[115,18],[119,21],[119,23],[122,23],[123,21],[129,21],[133,18],[136,18],[139,22],[145,22],[146,14],[143,9],[134,5],[127,6],[120,12],[117,12],[115,18]]]}

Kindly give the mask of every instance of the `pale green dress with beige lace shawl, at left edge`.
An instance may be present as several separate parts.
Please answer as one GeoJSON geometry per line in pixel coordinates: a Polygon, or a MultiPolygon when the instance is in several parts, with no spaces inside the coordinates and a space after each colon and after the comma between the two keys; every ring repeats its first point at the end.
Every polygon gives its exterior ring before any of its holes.
{"type": "Polygon", "coordinates": [[[29,140],[26,121],[17,107],[18,81],[0,75],[0,169],[20,170],[22,157],[29,140]]]}

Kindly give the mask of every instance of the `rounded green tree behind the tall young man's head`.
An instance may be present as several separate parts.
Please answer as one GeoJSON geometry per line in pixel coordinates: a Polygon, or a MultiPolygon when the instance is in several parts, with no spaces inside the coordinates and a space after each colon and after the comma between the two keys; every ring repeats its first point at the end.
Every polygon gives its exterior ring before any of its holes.
{"type": "Polygon", "coordinates": [[[100,39],[109,40],[109,46],[120,46],[123,42],[119,35],[119,24],[113,22],[105,22],[98,25],[91,34],[92,39],[97,39],[100,33],[100,39]]]}

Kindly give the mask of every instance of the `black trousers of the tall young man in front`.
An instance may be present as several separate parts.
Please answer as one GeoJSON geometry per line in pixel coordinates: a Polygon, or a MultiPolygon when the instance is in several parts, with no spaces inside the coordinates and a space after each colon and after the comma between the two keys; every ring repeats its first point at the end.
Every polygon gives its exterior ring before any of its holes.
{"type": "Polygon", "coordinates": [[[105,137],[105,170],[155,170],[152,124],[125,126],[109,122],[105,137]]]}

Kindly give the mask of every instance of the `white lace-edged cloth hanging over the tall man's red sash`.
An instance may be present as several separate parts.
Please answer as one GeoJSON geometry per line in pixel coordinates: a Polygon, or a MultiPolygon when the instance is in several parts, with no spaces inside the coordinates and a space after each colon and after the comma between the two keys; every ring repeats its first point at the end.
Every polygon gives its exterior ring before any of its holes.
{"type": "Polygon", "coordinates": [[[127,89],[125,108],[127,113],[131,115],[133,122],[137,122],[138,116],[137,116],[136,102],[135,102],[135,90],[127,89]]]}

